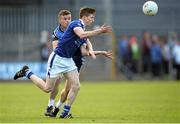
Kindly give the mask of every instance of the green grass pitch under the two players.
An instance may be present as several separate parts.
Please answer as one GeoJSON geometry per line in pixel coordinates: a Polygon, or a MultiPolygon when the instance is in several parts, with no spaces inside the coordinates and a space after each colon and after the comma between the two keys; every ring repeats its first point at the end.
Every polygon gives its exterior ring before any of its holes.
{"type": "Polygon", "coordinates": [[[120,82],[82,82],[73,119],[45,117],[49,95],[32,83],[0,83],[0,122],[180,123],[180,83],[120,82]]]}

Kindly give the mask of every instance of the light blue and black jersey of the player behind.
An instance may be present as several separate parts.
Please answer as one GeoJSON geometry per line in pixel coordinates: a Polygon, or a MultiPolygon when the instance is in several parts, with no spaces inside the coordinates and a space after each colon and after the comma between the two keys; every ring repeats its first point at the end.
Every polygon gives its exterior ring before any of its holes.
{"type": "Polygon", "coordinates": [[[61,39],[63,34],[64,31],[61,30],[61,26],[58,26],[52,34],[52,39],[53,39],[52,41],[61,39]]]}

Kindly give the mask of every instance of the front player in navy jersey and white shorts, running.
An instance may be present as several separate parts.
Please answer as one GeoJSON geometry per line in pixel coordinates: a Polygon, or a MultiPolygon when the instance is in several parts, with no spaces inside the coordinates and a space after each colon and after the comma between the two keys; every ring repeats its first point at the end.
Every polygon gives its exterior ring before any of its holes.
{"type": "MultiPolygon", "coordinates": [[[[69,92],[60,118],[70,117],[69,111],[80,89],[79,74],[72,59],[73,55],[81,46],[87,46],[87,38],[112,32],[111,26],[108,25],[103,25],[92,31],[85,31],[85,26],[90,26],[94,22],[94,18],[95,9],[85,7],[80,10],[80,19],[70,23],[62,38],[59,39],[60,42],[58,42],[56,49],[49,56],[46,82],[36,76],[28,66],[24,66],[14,76],[15,80],[26,76],[41,90],[48,93],[53,90],[57,78],[63,74],[67,79],[69,92]]],[[[96,57],[92,49],[89,49],[87,54],[93,58],[96,57]]]]}

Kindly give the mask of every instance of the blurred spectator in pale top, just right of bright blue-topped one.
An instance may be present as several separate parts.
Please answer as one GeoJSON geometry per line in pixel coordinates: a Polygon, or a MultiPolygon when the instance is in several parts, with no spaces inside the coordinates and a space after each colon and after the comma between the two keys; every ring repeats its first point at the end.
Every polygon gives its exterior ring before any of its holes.
{"type": "Polygon", "coordinates": [[[165,76],[169,75],[169,65],[170,65],[170,59],[171,59],[171,54],[170,54],[170,48],[167,42],[167,38],[165,36],[161,37],[161,53],[162,53],[162,69],[165,76]]]}

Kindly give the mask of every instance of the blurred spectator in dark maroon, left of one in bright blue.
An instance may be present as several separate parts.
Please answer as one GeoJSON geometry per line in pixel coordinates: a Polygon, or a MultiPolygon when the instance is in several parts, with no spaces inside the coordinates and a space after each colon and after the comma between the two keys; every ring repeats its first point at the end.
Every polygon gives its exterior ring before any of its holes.
{"type": "Polygon", "coordinates": [[[142,69],[143,72],[148,72],[150,69],[150,49],[151,49],[151,34],[143,33],[142,38],[142,69]]]}

